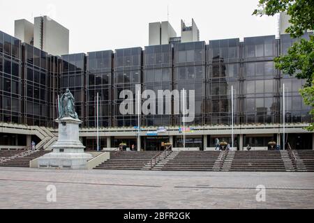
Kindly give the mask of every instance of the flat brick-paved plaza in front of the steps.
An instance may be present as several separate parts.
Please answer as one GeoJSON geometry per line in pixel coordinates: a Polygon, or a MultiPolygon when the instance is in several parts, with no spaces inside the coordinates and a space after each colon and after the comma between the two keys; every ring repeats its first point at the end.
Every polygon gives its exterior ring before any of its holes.
{"type": "Polygon", "coordinates": [[[314,173],[1,167],[0,208],[314,208],[314,173]]]}

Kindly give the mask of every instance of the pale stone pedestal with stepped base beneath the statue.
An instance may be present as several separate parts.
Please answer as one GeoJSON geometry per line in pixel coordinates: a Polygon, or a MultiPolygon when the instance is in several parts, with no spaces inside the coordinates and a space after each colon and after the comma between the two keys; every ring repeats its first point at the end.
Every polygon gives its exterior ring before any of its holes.
{"type": "Polygon", "coordinates": [[[59,123],[58,141],[52,146],[53,152],[38,158],[38,168],[87,169],[87,160],[92,156],[84,153],[79,138],[79,119],[65,117],[59,123]]]}

